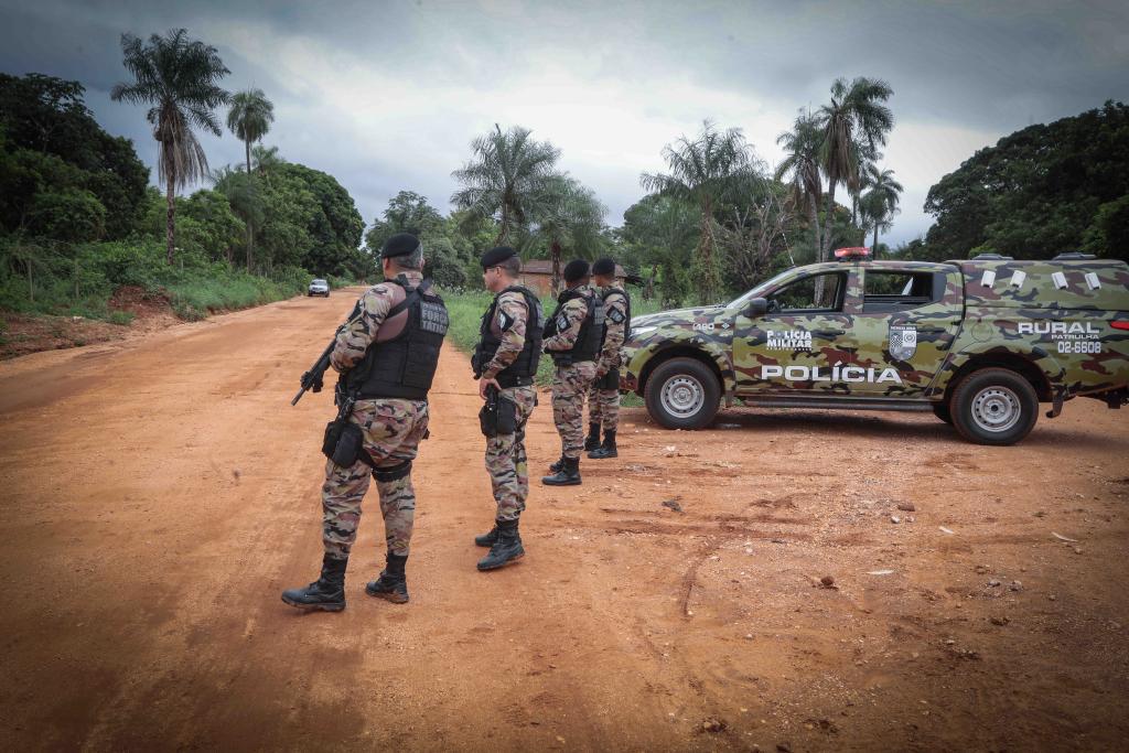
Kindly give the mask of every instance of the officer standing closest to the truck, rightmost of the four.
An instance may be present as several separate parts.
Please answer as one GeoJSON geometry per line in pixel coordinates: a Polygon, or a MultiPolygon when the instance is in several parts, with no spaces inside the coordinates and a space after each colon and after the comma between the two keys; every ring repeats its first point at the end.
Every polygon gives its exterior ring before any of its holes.
{"type": "Polygon", "coordinates": [[[631,330],[631,298],[615,286],[615,260],[604,256],[592,265],[592,284],[604,301],[604,343],[596,361],[596,378],[588,392],[588,438],[584,448],[594,461],[616,457],[615,429],[620,421],[620,347],[631,330]],[[604,443],[599,443],[599,428],[604,443]]]}

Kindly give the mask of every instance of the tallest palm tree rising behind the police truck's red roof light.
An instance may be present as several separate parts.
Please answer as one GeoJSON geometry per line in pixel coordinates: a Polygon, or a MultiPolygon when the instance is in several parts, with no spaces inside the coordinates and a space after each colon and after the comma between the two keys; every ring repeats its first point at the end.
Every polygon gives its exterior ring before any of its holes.
{"type": "Polygon", "coordinates": [[[877,155],[877,148],[886,143],[886,133],[894,125],[893,113],[883,104],[892,94],[890,85],[878,79],[859,77],[848,86],[847,79],[839,78],[831,85],[831,103],[820,107],[819,123],[823,129],[820,163],[828,177],[821,262],[831,252],[835,186],[846,183],[850,190],[858,190],[859,164],[864,157],[877,155]]]}

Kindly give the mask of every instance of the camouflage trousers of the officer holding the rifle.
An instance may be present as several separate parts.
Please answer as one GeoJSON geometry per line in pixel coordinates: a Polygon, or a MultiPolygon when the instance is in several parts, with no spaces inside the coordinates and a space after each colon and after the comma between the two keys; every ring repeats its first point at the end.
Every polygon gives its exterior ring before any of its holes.
{"type": "Polygon", "coordinates": [[[322,541],[325,553],[344,559],[357,541],[360,504],[369,474],[376,479],[384,515],[384,539],[392,554],[408,554],[415,520],[411,461],[427,431],[427,401],[360,400],[349,420],[361,428],[376,470],[358,461],[350,467],[325,462],[322,541]]]}

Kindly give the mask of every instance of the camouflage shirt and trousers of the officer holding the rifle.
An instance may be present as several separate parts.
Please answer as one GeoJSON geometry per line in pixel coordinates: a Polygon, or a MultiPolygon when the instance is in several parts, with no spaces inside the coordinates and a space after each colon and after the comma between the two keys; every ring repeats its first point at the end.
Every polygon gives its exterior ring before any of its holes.
{"type": "MultiPolygon", "coordinates": [[[[423,275],[420,272],[403,272],[405,284],[419,287],[423,275]]],[[[358,315],[338,335],[331,364],[338,371],[352,368],[368,347],[373,344],[380,324],[395,300],[396,286],[377,284],[369,288],[359,301],[358,315]]],[[[412,539],[415,518],[415,491],[411,475],[394,480],[382,480],[382,469],[402,467],[415,458],[418,446],[427,432],[428,404],[417,400],[359,400],[353,405],[350,421],[358,424],[365,435],[365,450],[376,464],[373,470],[358,461],[350,467],[342,467],[333,461],[325,463],[325,484],[322,487],[322,509],[324,519],[322,536],[325,553],[344,559],[357,540],[357,524],[360,520],[361,500],[368,491],[369,473],[376,478],[380,494],[380,513],[384,515],[385,540],[388,552],[406,555],[412,539]]],[[[396,473],[388,475],[395,476],[396,473]]]]}

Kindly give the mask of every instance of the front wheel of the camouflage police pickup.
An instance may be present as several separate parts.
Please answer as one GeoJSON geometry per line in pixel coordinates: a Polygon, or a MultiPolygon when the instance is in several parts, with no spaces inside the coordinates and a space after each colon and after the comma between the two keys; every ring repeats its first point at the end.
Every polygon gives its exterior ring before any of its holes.
{"type": "Polygon", "coordinates": [[[667,429],[701,429],[717,415],[721,385],[708,366],[672,358],[647,379],[647,412],[667,429]]]}

